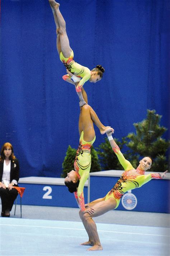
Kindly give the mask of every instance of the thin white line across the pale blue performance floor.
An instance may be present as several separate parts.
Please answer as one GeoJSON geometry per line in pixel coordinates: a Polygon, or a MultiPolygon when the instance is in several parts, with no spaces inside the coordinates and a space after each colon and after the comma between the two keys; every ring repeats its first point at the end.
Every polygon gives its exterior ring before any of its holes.
{"type": "MultiPolygon", "coordinates": [[[[15,224],[0,224],[1,226],[17,226],[17,227],[33,227],[33,228],[54,228],[54,229],[71,229],[71,230],[84,230],[82,228],[59,228],[59,227],[48,227],[48,226],[33,226],[33,225],[15,225],[15,224]]],[[[159,237],[169,237],[166,235],[160,234],[142,234],[142,233],[133,233],[133,232],[120,232],[120,231],[109,231],[109,230],[98,230],[98,232],[108,232],[108,233],[120,233],[120,234],[134,234],[142,236],[159,236],[159,237]]]]}

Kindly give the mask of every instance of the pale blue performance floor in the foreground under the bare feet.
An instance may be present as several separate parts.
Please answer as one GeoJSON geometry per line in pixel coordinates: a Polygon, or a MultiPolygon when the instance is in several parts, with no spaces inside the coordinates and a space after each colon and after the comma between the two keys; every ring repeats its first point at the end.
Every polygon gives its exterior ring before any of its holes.
{"type": "Polygon", "coordinates": [[[81,222],[0,218],[1,256],[169,256],[169,230],[97,223],[103,251],[86,251],[81,222]]]}

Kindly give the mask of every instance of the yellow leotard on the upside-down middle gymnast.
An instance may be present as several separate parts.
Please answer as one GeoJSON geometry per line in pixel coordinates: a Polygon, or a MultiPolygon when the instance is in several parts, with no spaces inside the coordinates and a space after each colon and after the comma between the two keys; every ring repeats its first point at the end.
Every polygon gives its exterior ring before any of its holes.
{"type": "Polygon", "coordinates": [[[76,157],[74,161],[74,169],[76,171],[77,176],[80,179],[79,187],[77,188],[77,192],[74,193],[75,197],[78,198],[81,210],[85,210],[84,205],[84,184],[86,180],[89,178],[90,167],[91,167],[91,146],[93,145],[96,136],[93,141],[86,142],[83,139],[84,132],[81,132],[79,147],[76,152],[76,157]]]}

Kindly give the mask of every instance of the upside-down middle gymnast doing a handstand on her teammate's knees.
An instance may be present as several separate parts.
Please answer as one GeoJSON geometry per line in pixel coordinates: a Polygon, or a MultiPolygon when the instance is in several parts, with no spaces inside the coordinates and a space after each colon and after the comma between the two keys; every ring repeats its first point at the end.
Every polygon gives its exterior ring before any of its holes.
{"type": "MultiPolygon", "coordinates": [[[[87,95],[82,87],[82,95],[88,103],[87,95]]],[[[81,211],[85,210],[84,204],[84,184],[89,177],[90,166],[91,166],[91,146],[95,141],[95,131],[93,123],[99,128],[100,133],[114,132],[113,128],[104,126],[95,111],[88,105],[80,107],[79,117],[79,134],[80,141],[79,147],[76,152],[74,161],[74,169],[67,174],[65,178],[65,185],[69,188],[71,193],[74,192],[77,204],[81,208],[81,211]]],[[[90,209],[88,210],[89,212],[90,209]]]]}

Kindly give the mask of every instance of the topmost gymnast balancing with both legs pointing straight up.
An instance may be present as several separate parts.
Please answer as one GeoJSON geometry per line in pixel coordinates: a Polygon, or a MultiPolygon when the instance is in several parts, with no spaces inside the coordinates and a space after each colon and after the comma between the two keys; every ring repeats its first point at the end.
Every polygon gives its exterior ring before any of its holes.
{"type": "MultiPolygon", "coordinates": [[[[55,0],[48,1],[56,23],[58,54],[66,69],[74,74],[72,79],[74,79],[75,82],[80,81],[76,86],[76,92],[80,98],[80,106],[83,106],[86,104],[81,92],[83,84],[88,80],[93,83],[99,81],[103,77],[104,68],[101,65],[97,65],[96,68],[90,71],[87,67],[84,67],[73,60],[74,53],[70,47],[69,38],[66,33],[66,22],[59,10],[60,4],[56,3],[55,0]],[[80,80],[80,78],[82,79],[80,80]]],[[[73,82],[68,74],[63,76],[63,79],[69,83],[73,82]]]]}

